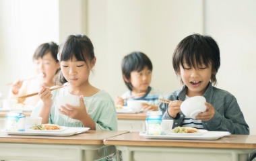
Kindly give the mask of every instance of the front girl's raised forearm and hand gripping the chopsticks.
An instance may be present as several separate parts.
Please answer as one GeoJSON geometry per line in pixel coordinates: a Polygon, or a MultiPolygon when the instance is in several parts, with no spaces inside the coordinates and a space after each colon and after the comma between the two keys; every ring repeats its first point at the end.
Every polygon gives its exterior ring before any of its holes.
{"type": "Polygon", "coordinates": [[[49,88],[42,87],[38,93],[42,100],[42,107],[38,113],[38,117],[42,117],[42,123],[49,123],[49,115],[51,112],[51,106],[53,105],[51,91],[49,88]]]}

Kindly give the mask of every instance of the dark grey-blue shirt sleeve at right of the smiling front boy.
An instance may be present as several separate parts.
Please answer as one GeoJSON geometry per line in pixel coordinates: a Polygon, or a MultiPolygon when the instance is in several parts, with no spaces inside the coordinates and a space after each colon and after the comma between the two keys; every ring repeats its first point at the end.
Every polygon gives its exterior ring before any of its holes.
{"type": "Polygon", "coordinates": [[[203,126],[206,127],[205,129],[212,131],[229,131],[232,134],[249,134],[249,126],[245,122],[245,118],[235,97],[232,96],[224,105],[226,107],[223,107],[225,110],[224,115],[215,111],[215,115],[212,119],[202,121],[203,126]]]}

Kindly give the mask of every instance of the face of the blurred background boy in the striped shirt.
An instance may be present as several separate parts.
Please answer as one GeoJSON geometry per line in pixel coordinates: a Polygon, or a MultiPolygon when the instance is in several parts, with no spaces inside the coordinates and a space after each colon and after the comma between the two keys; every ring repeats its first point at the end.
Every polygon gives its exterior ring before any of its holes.
{"type": "Polygon", "coordinates": [[[151,83],[152,71],[145,66],[141,71],[132,71],[129,82],[133,85],[133,92],[141,93],[148,91],[151,83]]]}

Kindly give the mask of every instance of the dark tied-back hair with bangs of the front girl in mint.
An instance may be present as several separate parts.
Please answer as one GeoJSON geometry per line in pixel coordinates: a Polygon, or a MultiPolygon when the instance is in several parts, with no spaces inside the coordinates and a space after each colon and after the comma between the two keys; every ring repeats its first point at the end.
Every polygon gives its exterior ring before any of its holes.
{"type": "MultiPolygon", "coordinates": [[[[59,61],[73,60],[84,61],[86,65],[94,59],[94,46],[90,38],[83,34],[73,34],[65,38],[65,40],[59,46],[59,61]]],[[[55,84],[67,83],[67,80],[59,71],[57,78],[55,78],[55,84]]]]}

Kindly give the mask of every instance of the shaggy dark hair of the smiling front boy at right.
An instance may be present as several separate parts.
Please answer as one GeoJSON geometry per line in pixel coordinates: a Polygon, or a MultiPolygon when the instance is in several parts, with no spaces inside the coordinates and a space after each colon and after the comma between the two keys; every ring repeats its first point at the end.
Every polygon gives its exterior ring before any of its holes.
{"type": "MultiPolygon", "coordinates": [[[[184,60],[194,68],[201,64],[207,67],[212,64],[211,83],[217,84],[216,74],[220,68],[220,49],[211,36],[193,34],[181,40],[172,56],[172,66],[176,74],[180,71],[180,64],[184,68],[184,60]]],[[[183,83],[182,79],[181,83],[183,83]]]]}

